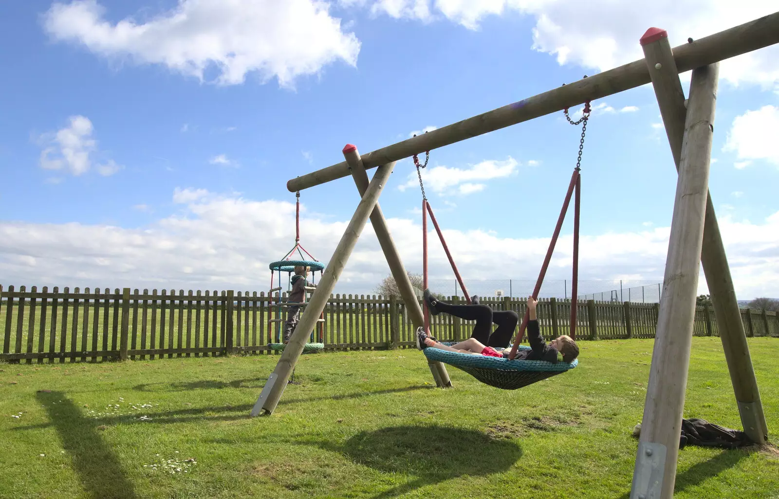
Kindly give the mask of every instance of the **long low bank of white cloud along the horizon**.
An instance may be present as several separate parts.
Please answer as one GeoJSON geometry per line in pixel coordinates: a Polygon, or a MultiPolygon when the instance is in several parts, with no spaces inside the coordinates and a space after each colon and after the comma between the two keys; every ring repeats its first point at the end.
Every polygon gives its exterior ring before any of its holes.
{"type": "MultiPolygon", "coordinates": [[[[181,213],[134,229],[0,222],[3,284],[265,290],[268,263],[294,241],[294,203],[217,196],[205,189],[179,188],[173,197],[183,203],[181,213]]],[[[417,218],[388,220],[405,265],[416,272],[421,269],[417,218]]],[[[719,222],[738,296],[779,295],[779,212],[760,223],[738,222],[728,215],[721,215],[719,222]]],[[[302,241],[312,255],[327,262],[346,226],[346,220],[325,222],[304,215],[302,241]]],[[[661,279],[669,234],[668,227],[584,234],[580,279],[661,279]]],[[[447,229],[444,235],[466,279],[494,275],[494,262],[501,262],[506,276],[531,278],[548,246],[548,237],[520,239],[486,230],[447,229]]],[[[572,235],[562,234],[547,279],[569,279],[571,250],[572,235]]],[[[430,245],[429,262],[431,279],[452,279],[439,244],[430,245]]],[[[368,224],[337,292],[365,293],[388,272],[368,224]]],[[[703,274],[700,282],[705,292],[703,274]]]]}

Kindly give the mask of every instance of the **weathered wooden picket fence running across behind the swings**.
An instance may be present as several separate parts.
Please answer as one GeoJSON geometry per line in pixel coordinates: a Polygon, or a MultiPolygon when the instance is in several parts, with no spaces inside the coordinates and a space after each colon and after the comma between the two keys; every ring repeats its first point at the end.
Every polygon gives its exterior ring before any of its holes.
{"type": "MultiPolygon", "coordinates": [[[[462,298],[449,297],[453,303],[462,298]]],[[[0,360],[27,364],[48,359],[98,360],[200,357],[233,353],[275,353],[279,308],[286,296],[265,293],[184,290],[27,291],[0,286],[0,360]]],[[[525,312],[524,299],[482,300],[495,310],[525,312]]],[[[546,337],[571,333],[570,300],[541,300],[538,318],[546,337]]],[[[284,309],[286,311],[286,309],[284,309]]],[[[577,304],[576,339],[653,338],[657,304],[587,300],[577,304]]],[[[775,312],[742,309],[747,336],[779,336],[775,312]]],[[[285,312],[284,312],[285,313],[285,312]]],[[[283,316],[282,316],[283,317],[283,316]]],[[[473,323],[450,315],[431,318],[431,332],[446,340],[466,339],[473,323]]],[[[697,307],[696,336],[717,336],[709,307],[697,307]]],[[[414,345],[414,328],[398,297],[331,295],[324,322],[313,333],[326,350],[385,350],[414,345]]]]}

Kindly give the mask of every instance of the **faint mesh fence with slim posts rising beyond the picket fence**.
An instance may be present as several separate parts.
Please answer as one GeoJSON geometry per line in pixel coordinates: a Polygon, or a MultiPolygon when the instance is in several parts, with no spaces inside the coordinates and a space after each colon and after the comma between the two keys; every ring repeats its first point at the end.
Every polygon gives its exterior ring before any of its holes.
{"type": "MultiPolygon", "coordinates": [[[[535,280],[530,279],[464,279],[468,294],[480,297],[527,297],[533,293],[535,280]]],[[[456,279],[430,279],[430,290],[444,296],[463,297],[456,279]]],[[[659,303],[662,283],[640,280],[580,280],[576,296],[579,300],[631,301],[659,303]]],[[[546,279],[538,293],[541,298],[571,297],[569,279],[546,279]]]]}

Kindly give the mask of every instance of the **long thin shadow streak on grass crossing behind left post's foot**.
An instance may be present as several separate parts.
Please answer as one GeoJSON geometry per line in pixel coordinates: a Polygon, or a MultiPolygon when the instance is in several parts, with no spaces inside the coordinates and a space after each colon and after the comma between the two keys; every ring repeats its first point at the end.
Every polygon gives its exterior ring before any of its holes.
{"type": "MultiPolygon", "coordinates": [[[[341,395],[321,395],[316,397],[306,397],[302,399],[281,399],[279,406],[287,406],[298,403],[311,403],[321,402],[323,400],[344,400],[344,399],[360,399],[361,397],[368,397],[374,395],[386,395],[389,393],[402,393],[412,392],[414,390],[428,390],[434,389],[427,385],[421,386],[407,386],[404,388],[388,388],[386,390],[379,390],[376,392],[355,392],[345,393],[341,395]]],[[[41,394],[39,394],[41,395],[41,394]]],[[[48,394],[43,394],[48,395],[48,394]]],[[[64,403],[64,402],[63,402],[64,403]]],[[[240,404],[233,406],[231,404],[225,404],[224,406],[209,406],[209,407],[192,407],[190,409],[176,409],[171,411],[165,411],[161,413],[146,413],[151,417],[150,421],[137,420],[135,417],[137,414],[128,414],[122,416],[104,416],[94,421],[96,425],[99,424],[137,424],[137,423],[157,423],[157,424],[169,424],[169,423],[191,423],[192,421],[207,420],[207,421],[234,421],[249,419],[249,412],[252,410],[254,402],[247,404],[240,404]]],[[[77,409],[76,409],[77,410],[77,409]]],[[[39,428],[49,427],[51,423],[33,424],[29,426],[19,426],[14,430],[33,430],[39,428]]]]}

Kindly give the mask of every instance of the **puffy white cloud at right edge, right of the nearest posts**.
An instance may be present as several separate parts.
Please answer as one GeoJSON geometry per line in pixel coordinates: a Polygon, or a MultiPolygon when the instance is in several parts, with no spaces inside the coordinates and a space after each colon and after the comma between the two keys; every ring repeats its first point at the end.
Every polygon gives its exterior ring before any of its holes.
{"type": "Polygon", "coordinates": [[[735,152],[742,160],[736,168],[749,166],[751,160],[767,160],[779,166],[779,149],[775,142],[779,131],[779,107],[763,106],[757,111],[746,111],[733,120],[728,140],[722,150],[735,152]]]}

